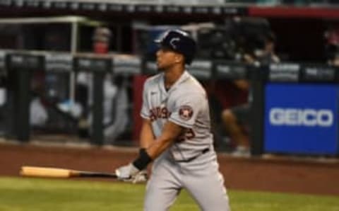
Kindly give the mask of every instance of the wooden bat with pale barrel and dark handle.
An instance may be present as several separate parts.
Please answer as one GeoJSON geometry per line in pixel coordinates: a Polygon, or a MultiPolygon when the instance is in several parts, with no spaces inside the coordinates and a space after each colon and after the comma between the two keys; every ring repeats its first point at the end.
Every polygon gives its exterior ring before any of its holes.
{"type": "Polygon", "coordinates": [[[117,178],[117,175],[115,173],[105,173],[97,171],[78,171],[72,169],[59,169],[37,166],[21,166],[20,175],[47,177],[47,178],[72,178],[72,177],[117,178]]]}

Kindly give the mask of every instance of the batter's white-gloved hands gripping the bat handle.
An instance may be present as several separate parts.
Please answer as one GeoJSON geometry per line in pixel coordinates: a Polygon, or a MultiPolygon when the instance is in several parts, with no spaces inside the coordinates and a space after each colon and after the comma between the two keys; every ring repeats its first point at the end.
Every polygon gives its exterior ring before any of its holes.
{"type": "Polygon", "coordinates": [[[133,164],[121,166],[115,170],[115,173],[121,181],[141,183],[147,180],[147,172],[140,171],[136,166],[133,166],[133,164]]]}

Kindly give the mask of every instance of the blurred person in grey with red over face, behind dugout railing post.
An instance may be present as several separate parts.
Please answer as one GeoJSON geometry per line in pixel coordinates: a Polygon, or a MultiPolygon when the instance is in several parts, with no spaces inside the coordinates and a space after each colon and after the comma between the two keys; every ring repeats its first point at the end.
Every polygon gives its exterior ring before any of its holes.
{"type": "MultiPolygon", "coordinates": [[[[93,35],[93,51],[95,54],[105,55],[109,52],[109,40],[112,37],[109,28],[98,27],[93,35]]],[[[80,72],[77,76],[78,101],[84,108],[79,120],[79,135],[88,136],[93,116],[90,105],[93,105],[93,74],[80,72]]],[[[112,144],[129,122],[129,98],[126,89],[126,80],[122,76],[106,74],[103,79],[103,117],[104,143],[112,144]]]]}

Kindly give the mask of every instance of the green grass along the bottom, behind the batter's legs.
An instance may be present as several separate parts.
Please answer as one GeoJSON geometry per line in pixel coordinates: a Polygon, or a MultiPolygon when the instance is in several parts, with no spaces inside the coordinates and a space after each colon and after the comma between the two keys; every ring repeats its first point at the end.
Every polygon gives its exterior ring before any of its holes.
{"type": "MultiPolygon", "coordinates": [[[[143,210],[144,193],[144,185],[129,183],[0,178],[0,211],[143,210]]],[[[236,190],[229,195],[232,211],[339,211],[335,196],[236,190]]],[[[171,210],[199,209],[184,191],[171,210]]]]}

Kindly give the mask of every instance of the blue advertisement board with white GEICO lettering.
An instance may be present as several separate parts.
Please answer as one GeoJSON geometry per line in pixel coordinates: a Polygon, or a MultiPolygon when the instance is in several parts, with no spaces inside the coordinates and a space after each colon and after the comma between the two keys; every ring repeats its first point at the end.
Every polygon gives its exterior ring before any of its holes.
{"type": "Polygon", "coordinates": [[[265,152],[338,154],[338,85],[269,83],[265,89],[265,152]]]}

